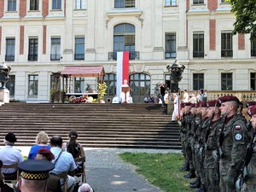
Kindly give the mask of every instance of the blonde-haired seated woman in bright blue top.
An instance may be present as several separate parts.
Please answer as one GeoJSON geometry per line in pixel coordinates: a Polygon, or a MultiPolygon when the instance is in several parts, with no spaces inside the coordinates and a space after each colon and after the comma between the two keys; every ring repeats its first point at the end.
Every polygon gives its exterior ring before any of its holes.
{"type": "Polygon", "coordinates": [[[49,148],[48,135],[44,131],[39,132],[38,136],[36,137],[36,143],[37,144],[33,145],[30,149],[30,152],[27,156],[27,160],[35,159],[39,148],[49,148]]]}

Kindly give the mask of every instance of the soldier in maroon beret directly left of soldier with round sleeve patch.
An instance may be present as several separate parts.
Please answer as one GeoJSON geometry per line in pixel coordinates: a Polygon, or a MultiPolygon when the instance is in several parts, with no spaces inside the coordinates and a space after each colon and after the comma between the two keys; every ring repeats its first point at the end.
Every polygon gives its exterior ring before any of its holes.
{"type": "Polygon", "coordinates": [[[207,192],[219,192],[219,171],[218,159],[214,159],[212,152],[218,149],[219,129],[223,125],[220,118],[220,104],[217,100],[207,102],[207,117],[211,118],[211,123],[207,127],[206,147],[205,147],[205,169],[207,192]]]}

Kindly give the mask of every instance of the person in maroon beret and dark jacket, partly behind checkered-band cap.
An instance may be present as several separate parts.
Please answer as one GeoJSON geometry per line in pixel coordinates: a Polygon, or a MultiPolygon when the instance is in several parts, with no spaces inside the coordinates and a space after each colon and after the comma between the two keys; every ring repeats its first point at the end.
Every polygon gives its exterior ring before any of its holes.
{"type": "MultiPolygon", "coordinates": [[[[51,161],[55,159],[55,155],[52,154],[48,148],[40,148],[35,159],[51,161]]],[[[47,192],[61,192],[60,177],[49,174],[47,192]]]]}

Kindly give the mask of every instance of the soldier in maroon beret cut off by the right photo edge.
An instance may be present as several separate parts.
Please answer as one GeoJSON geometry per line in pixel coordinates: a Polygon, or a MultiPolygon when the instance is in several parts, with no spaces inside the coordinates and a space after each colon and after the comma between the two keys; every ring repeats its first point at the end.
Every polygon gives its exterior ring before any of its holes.
{"type": "Polygon", "coordinates": [[[251,159],[247,165],[248,171],[248,180],[247,182],[243,183],[241,186],[241,192],[253,192],[256,191],[256,139],[255,139],[255,132],[256,132],[256,105],[252,105],[247,109],[247,113],[251,116],[250,121],[252,122],[253,126],[253,137],[252,140],[252,148],[253,154],[251,159]]]}

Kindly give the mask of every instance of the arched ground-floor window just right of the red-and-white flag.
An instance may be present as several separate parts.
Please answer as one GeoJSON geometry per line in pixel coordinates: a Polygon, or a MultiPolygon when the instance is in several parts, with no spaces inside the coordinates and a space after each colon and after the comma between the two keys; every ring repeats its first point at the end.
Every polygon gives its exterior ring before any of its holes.
{"type": "Polygon", "coordinates": [[[146,96],[150,96],[150,76],[145,73],[131,74],[130,88],[133,102],[143,102],[146,96]]]}

